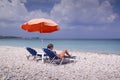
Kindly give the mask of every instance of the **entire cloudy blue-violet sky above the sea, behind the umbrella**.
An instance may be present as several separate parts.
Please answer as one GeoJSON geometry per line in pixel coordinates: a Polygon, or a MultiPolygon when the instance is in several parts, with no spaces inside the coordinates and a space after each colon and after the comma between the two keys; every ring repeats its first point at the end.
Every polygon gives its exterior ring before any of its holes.
{"type": "Polygon", "coordinates": [[[120,38],[120,0],[0,0],[0,35],[40,38],[120,38]],[[60,30],[27,32],[21,25],[49,18],[60,30]]]}

